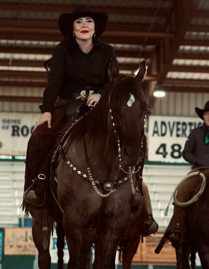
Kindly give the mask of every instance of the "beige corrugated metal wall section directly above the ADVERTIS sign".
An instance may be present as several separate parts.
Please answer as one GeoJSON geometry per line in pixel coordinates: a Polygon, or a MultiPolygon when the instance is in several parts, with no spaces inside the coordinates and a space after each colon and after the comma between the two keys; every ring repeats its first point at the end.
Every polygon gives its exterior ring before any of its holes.
{"type": "Polygon", "coordinates": [[[157,98],[152,115],[196,117],[195,107],[204,108],[209,93],[168,92],[165,97],[157,98]]]}

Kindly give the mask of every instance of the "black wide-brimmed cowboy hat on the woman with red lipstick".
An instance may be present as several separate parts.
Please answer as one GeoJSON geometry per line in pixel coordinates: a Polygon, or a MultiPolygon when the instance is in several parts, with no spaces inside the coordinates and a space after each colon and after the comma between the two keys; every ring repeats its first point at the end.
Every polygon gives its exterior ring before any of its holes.
{"type": "Polygon", "coordinates": [[[61,33],[66,36],[69,29],[73,25],[75,19],[80,17],[91,17],[94,19],[96,24],[96,35],[100,36],[105,28],[108,21],[108,15],[106,12],[92,12],[90,7],[85,4],[78,5],[73,13],[62,13],[59,16],[58,23],[61,33]]]}

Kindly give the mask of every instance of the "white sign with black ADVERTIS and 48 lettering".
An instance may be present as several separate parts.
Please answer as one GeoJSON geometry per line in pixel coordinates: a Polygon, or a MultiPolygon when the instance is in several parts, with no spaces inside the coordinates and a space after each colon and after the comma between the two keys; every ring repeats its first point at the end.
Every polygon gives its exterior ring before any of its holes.
{"type": "Polygon", "coordinates": [[[200,118],[149,116],[148,160],[185,162],[182,151],[187,137],[202,124],[200,118]]]}

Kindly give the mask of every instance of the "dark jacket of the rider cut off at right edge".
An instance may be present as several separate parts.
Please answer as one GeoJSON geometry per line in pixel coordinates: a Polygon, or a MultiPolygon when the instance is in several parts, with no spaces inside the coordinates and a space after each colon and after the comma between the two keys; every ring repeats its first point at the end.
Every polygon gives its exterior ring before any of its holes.
{"type": "Polygon", "coordinates": [[[192,130],[185,143],[182,152],[183,158],[193,164],[193,168],[209,166],[209,143],[204,141],[209,133],[209,128],[204,123],[202,126],[192,130]]]}

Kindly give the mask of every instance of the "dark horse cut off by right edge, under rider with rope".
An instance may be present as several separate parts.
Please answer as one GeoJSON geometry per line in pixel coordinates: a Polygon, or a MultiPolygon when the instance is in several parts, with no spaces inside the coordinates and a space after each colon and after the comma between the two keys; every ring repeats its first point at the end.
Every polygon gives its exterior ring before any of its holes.
{"type": "MultiPolygon", "coordinates": [[[[201,268],[209,268],[209,167],[200,169],[206,176],[206,187],[198,202],[188,209],[188,238],[182,246],[183,258],[177,256],[177,268],[195,269],[196,253],[199,254],[201,268]],[[191,254],[191,255],[190,255],[191,254]]],[[[176,246],[179,249],[179,246],[176,246]]]]}

